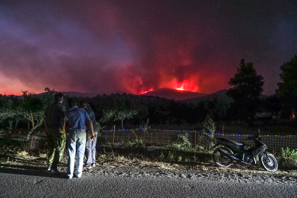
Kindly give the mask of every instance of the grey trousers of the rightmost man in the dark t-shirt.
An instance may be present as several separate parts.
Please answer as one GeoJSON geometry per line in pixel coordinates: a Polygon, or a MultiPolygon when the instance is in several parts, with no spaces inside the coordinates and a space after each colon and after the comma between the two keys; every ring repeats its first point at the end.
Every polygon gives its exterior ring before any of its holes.
{"type": "Polygon", "coordinates": [[[98,132],[94,132],[95,137],[93,140],[91,140],[91,133],[92,132],[90,131],[86,133],[87,140],[86,140],[85,155],[87,158],[87,161],[86,161],[87,166],[95,163],[96,161],[96,142],[97,142],[98,132]]]}

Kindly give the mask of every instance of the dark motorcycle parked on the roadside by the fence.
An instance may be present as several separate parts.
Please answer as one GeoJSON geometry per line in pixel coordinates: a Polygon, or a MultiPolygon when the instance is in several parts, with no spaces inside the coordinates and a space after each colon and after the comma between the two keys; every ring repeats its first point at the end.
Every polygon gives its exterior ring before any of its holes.
{"type": "MultiPolygon", "coordinates": [[[[244,142],[237,142],[227,138],[215,138],[217,143],[212,148],[219,145],[212,153],[212,159],[220,167],[229,167],[233,161],[244,165],[257,165],[258,160],[263,168],[269,172],[277,171],[277,160],[266,151],[268,147],[258,140],[258,135],[249,136],[246,140],[253,140],[255,145],[245,150],[244,142]]],[[[211,149],[212,149],[211,148],[211,149]]]]}

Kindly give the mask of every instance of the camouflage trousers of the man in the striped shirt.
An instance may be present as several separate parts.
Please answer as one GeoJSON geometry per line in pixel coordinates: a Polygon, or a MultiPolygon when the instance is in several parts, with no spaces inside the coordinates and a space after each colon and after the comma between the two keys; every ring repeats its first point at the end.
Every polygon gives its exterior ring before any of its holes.
{"type": "Polygon", "coordinates": [[[51,132],[47,133],[48,137],[48,166],[56,169],[65,149],[66,134],[65,132],[51,132]]]}

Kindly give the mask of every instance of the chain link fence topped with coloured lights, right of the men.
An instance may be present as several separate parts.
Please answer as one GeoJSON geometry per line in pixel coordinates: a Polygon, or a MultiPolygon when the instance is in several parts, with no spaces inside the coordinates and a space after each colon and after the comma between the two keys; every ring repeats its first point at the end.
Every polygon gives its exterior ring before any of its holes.
{"type": "MultiPolygon", "coordinates": [[[[161,129],[130,129],[130,130],[106,130],[99,131],[101,142],[129,142],[142,140],[146,144],[167,145],[177,139],[179,134],[187,134],[189,141],[193,146],[201,146],[207,148],[209,138],[207,134],[202,134],[199,131],[176,131],[176,130],[161,130],[161,129]]],[[[252,140],[246,140],[249,135],[240,134],[216,134],[215,137],[224,137],[238,142],[244,142],[246,147],[254,145],[252,140]]],[[[280,152],[282,148],[297,148],[296,135],[260,135],[258,138],[265,143],[271,152],[280,152]]]]}

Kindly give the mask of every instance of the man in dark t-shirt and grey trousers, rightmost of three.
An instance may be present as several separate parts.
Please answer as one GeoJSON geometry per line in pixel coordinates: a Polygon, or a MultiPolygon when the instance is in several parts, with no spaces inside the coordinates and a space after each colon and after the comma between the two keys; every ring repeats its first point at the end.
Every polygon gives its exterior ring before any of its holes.
{"type": "Polygon", "coordinates": [[[94,139],[91,140],[91,130],[89,123],[86,123],[87,129],[86,129],[86,149],[85,149],[85,156],[87,158],[86,163],[83,165],[83,168],[91,168],[92,166],[95,166],[96,161],[96,142],[97,142],[97,135],[98,130],[96,126],[96,116],[94,111],[91,109],[90,105],[87,104],[85,100],[80,101],[81,108],[85,109],[86,112],[89,114],[89,117],[93,123],[93,129],[94,129],[94,139]]]}

